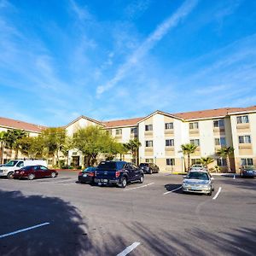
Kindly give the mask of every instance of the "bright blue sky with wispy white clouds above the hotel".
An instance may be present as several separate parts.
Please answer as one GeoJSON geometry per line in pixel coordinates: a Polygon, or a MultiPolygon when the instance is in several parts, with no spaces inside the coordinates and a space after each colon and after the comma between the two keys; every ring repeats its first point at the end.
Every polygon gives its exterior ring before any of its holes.
{"type": "Polygon", "coordinates": [[[0,116],[255,105],[255,17],[253,0],[0,0],[0,116]]]}

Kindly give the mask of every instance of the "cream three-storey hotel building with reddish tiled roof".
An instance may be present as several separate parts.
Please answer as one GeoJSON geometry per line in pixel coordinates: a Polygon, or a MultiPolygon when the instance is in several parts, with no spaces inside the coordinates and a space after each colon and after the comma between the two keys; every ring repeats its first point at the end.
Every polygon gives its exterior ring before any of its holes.
{"type": "MultiPolygon", "coordinates": [[[[182,172],[184,160],[181,145],[198,146],[191,154],[192,164],[201,157],[214,159],[211,166],[226,168],[226,160],[216,155],[224,146],[235,148],[231,168],[239,172],[241,165],[256,165],[256,106],[249,108],[218,108],[186,113],[155,111],[146,117],[112,121],[99,121],[80,116],[65,126],[67,136],[88,125],[101,125],[119,143],[138,138],[139,162],[154,162],[160,172],[182,172]]],[[[37,136],[44,127],[0,118],[0,131],[22,129],[37,136]]],[[[9,152],[9,158],[13,155],[9,152]]],[[[131,161],[131,154],[125,155],[131,161]]],[[[82,155],[75,149],[69,151],[69,162],[83,165],[82,155]]]]}

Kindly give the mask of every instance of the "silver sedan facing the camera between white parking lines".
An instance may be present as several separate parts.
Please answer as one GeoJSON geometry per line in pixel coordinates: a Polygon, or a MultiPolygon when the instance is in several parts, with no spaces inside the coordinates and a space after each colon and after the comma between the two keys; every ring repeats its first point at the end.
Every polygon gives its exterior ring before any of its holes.
{"type": "Polygon", "coordinates": [[[212,180],[208,172],[191,171],[183,179],[183,192],[212,195],[214,190],[212,180]]]}

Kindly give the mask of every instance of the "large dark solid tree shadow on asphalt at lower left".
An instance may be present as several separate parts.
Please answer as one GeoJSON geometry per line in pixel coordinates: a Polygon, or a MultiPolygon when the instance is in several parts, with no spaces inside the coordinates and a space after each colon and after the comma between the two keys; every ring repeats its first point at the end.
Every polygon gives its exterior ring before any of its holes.
{"type": "Polygon", "coordinates": [[[116,255],[128,245],[115,236],[93,245],[93,232],[76,207],[57,197],[26,196],[0,190],[0,235],[49,222],[14,236],[0,238],[0,255],[116,255]],[[111,242],[109,242],[111,241],[111,242]],[[117,241],[119,247],[117,247],[117,241]]]}

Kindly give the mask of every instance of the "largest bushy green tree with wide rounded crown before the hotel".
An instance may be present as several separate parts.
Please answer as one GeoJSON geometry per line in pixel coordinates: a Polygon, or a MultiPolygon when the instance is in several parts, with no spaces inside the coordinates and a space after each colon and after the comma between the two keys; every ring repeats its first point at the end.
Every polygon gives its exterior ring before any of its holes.
{"type": "Polygon", "coordinates": [[[100,153],[116,153],[116,145],[113,137],[97,125],[81,128],[73,135],[73,147],[84,154],[86,166],[93,166],[100,153]]]}

